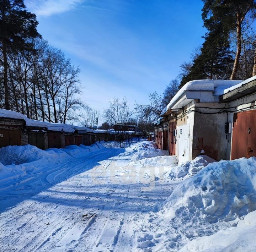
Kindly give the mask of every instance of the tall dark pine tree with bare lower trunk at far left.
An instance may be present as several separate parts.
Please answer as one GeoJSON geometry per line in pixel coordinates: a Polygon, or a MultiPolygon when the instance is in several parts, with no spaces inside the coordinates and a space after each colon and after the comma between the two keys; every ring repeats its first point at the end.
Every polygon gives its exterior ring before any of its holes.
{"type": "Polygon", "coordinates": [[[0,49],[4,59],[5,109],[9,109],[8,51],[32,50],[29,38],[40,37],[36,15],[28,12],[23,0],[0,0],[0,49]]]}

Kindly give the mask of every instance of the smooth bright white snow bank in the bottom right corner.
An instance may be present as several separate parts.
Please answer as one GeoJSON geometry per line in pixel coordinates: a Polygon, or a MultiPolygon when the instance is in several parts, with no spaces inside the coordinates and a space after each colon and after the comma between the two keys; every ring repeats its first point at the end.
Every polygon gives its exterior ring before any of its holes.
{"type": "Polygon", "coordinates": [[[235,228],[200,237],[187,243],[180,251],[255,251],[256,211],[247,214],[235,228]]]}

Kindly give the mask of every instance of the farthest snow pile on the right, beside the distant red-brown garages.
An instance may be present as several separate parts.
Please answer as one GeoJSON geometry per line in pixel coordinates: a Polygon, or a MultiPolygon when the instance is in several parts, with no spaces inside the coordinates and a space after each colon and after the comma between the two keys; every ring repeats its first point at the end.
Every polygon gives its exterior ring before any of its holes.
{"type": "Polygon", "coordinates": [[[135,153],[132,157],[133,161],[169,154],[167,150],[157,149],[156,144],[152,141],[138,142],[133,144],[130,148],[135,150],[135,153]]]}

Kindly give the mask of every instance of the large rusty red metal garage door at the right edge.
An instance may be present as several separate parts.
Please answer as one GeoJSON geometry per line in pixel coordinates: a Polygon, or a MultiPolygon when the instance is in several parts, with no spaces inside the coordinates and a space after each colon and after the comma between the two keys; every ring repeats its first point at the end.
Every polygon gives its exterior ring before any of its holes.
{"type": "Polygon", "coordinates": [[[231,159],[256,156],[256,110],[234,113],[231,159]]]}

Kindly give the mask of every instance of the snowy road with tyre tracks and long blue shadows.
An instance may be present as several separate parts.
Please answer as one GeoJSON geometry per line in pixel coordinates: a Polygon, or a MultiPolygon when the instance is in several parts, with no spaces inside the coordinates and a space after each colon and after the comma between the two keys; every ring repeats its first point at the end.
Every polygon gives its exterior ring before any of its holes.
{"type": "Polygon", "coordinates": [[[135,224],[171,188],[153,183],[143,190],[143,177],[123,169],[132,155],[103,149],[3,187],[0,251],[137,250],[135,224]]]}

